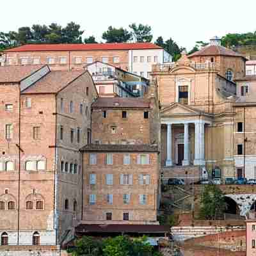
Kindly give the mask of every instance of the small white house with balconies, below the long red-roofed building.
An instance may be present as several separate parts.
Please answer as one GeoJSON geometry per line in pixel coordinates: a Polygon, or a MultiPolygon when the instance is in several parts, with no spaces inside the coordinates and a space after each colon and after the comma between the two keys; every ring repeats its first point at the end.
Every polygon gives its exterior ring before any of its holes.
{"type": "Polygon", "coordinates": [[[86,66],[100,97],[143,97],[149,81],[108,63],[95,61],[86,66]]]}

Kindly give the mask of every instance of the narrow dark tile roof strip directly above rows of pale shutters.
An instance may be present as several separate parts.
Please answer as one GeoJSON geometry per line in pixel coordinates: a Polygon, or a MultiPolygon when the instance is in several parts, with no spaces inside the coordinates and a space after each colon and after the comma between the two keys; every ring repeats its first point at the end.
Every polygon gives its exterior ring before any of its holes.
{"type": "Polygon", "coordinates": [[[159,148],[152,144],[88,144],[80,150],[84,152],[158,152],[159,148]]]}

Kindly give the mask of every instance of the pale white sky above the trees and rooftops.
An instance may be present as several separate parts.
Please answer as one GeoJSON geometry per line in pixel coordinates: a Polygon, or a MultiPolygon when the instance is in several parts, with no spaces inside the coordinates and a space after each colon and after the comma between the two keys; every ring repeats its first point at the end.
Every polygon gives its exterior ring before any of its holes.
{"type": "Polygon", "coordinates": [[[256,0],[2,0],[0,8],[0,31],[74,21],[83,36],[102,40],[108,26],[127,28],[136,22],[150,25],[154,40],[171,36],[187,50],[214,35],[256,30],[256,0]]]}

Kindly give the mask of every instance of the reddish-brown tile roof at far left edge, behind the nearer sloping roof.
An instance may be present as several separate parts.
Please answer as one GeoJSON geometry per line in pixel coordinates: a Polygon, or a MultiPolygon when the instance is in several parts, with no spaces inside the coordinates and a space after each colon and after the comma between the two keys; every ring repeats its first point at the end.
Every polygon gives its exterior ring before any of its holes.
{"type": "Polygon", "coordinates": [[[19,83],[44,65],[0,67],[0,83],[19,83]]]}

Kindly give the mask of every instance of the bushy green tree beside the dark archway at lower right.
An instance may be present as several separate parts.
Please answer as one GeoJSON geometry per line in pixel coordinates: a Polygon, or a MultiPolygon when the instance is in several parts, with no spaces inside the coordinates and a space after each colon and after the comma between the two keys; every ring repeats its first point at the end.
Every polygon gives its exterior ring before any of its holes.
{"type": "Polygon", "coordinates": [[[227,205],[224,194],[216,185],[207,185],[200,199],[200,218],[203,220],[220,220],[227,205]]]}

